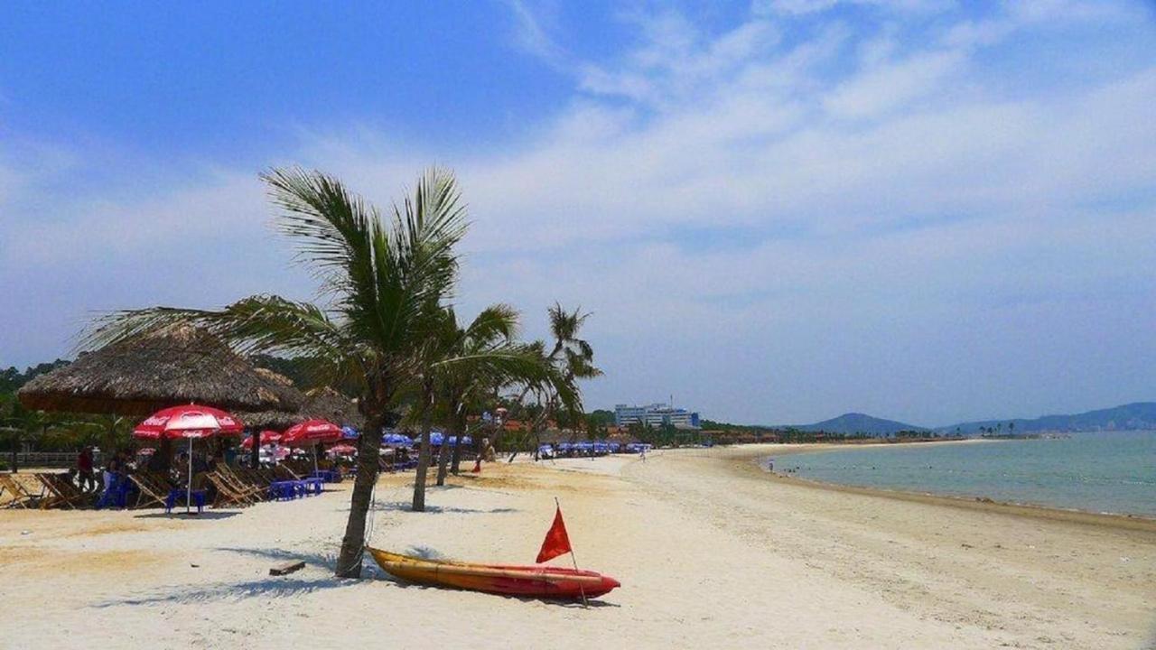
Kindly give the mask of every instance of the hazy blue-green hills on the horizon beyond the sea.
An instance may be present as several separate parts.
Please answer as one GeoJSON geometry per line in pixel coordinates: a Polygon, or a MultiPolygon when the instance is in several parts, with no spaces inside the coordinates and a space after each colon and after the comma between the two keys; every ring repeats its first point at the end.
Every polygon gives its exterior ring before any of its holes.
{"type": "Polygon", "coordinates": [[[1072,431],[1127,431],[1156,429],[1156,401],[1138,401],[1112,408],[1101,408],[1068,415],[1044,415],[1035,419],[1009,418],[978,420],[941,427],[920,427],[875,418],[865,413],[844,413],[813,424],[729,424],[703,421],[704,429],[744,431],[807,431],[842,436],[927,436],[1028,435],[1072,431]]]}

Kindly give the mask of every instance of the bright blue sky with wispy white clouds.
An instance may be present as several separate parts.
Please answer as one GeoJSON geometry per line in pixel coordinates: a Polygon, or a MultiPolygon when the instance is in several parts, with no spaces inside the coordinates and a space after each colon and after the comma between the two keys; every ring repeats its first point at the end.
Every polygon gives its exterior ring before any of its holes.
{"type": "Polygon", "coordinates": [[[459,296],[594,312],[590,406],[919,424],[1156,399],[1156,7],[0,9],[0,365],[307,298],[257,173],[452,167],[459,296]]]}

